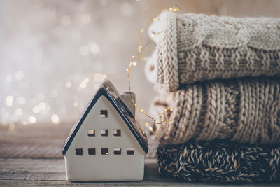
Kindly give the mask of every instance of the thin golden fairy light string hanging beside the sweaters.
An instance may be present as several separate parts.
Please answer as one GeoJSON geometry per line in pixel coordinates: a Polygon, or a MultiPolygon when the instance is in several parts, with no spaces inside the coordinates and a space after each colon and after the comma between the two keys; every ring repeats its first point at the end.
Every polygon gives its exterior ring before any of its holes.
{"type": "MultiPolygon", "coordinates": [[[[164,10],[165,11],[165,10],[164,10]]],[[[174,5],[172,6],[171,8],[169,8],[168,10],[170,13],[172,12],[177,12],[177,11],[181,11],[181,8],[180,6],[178,5],[174,5]]],[[[138,51],[135,55],[133,55],[131,58],[130,58],[130,66],[126,69],[127,71],[127,79],[128,79],[128,88],[130,90],[130,99],[132,99],[132,103],[134,104],[134,106],[141,112],[143,113],[145,116],[147,116],[148,118],[151,118],[151,120],[153,120],[153,125],[155,126],[155,128],[157,127],[158,124],[162,124],[162,123],[167,123],[168,120],[165,119],[161,122],[157,122],[152,116],[150,116],[148,113],[146,113],[143,109],[141,109],[137,104],[136,102],[134,101],[133,97],[132,97],[132,89],[131,89],[131,80],[130,80],[130,69],[132,68],[132,66],[136,66],[139,61],[142,59],[142,57],[146,54],[146,52],[148,50],[144,50],[146,49],[146,47],[151,43],[151,41],[153,41],[153,39],[155,38],[155,36],[157,36],[158,34],[162,33],[163,32],[163,29],[158,32],[158,33],[155,33],[151,36],[151,39],[149,39],[145,45],[143,46],[143,43],[142,43],[142,36],[143,36],[143,33],[144,33],[144,30],[146,29],[146,27],[148,27],[148,25],[151,25],[152,22],[155,22],[156,20],[158,20],[159,17],[156,17],[156,18],[153,18],[151,21],[147,22],[146,25],[140,30],[140,42],[139,42],[139,46],[138,46],[138,51]],[[144,51],[144,52],[143,52],[144,51]],[[139,59],[138,61],[136,59],[139,59]]],[[[167,112],[167,111],[170,111],[172,112],[173,111],[173,108],[172,107],[168,107],[167,109],[165,109],[165,111],[163,111],[162,113],[164,112],[167,112]]],[[[151,125],[149,125],[149,123],[144,123],[144,125],[148,128],[148,130],[150,130],[154,135],[155,135],[155,131],[153,130],[153,127],[151,127],[151,125]]]]}

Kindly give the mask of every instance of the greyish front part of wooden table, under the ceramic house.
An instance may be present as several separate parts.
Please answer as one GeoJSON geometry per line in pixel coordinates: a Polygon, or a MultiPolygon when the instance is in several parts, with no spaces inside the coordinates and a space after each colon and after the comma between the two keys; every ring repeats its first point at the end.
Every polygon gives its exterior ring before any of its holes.
{"type": "Polygon", "coordinates": [[[160,176],[156,167],[157,160],[146,159],[144,180],[139,182],[73,183],[66,181],[63,159],[0,158],[0,186],[213,186],[206,183],[186,183],[160,176]]]}

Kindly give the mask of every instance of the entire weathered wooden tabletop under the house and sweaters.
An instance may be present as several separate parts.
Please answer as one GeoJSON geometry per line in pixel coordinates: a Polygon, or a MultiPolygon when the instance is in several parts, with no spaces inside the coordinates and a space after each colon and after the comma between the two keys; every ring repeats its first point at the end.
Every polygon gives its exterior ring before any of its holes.
{"type": "MultiPolygon", "coordinates": [[[[149,142],[150,151],[145,160],[143,181],[106,183],[66,181],[61,150],[70,129],[71,125],[33,125],[9,130],[8,127],[0,125],[0,186],[216,186],[207,183],[186,183],[160,176],[157,172],[155,141],[149,142]]],[[[244,186],[280,186],[280,184],[244,186]]]]}

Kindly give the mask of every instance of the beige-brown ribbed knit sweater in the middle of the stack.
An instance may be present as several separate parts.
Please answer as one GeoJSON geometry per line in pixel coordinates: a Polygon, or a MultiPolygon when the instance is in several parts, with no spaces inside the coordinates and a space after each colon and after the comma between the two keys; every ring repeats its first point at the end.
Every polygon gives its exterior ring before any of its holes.
{"type": "Polygon", "coordinates": [[[155,98],[160,144],[228,139],[246,143],[280,142],[280,78],[204,81],[155,98]],[[167,107],[170,111],[162,113],[167,107]]]}

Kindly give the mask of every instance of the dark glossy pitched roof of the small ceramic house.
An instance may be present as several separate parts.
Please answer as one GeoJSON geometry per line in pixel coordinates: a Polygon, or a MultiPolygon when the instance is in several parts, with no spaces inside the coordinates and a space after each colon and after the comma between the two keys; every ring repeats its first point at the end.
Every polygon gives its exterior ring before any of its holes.
{"type": "Polygon", "coordinates": [[[146,137],[144,130],[141,130],[140,126],[138,125],[137,121],[135,120],[130,110],[127,108],[127,106],[122,101],[122,99],[120,99],[120,95],[116,90],[116,88],[113,86],[113,84],[110,81],[107,80],[104,81],[102,86],[97,91],[96,95],[92,98],[90,104],[88,104],[87,108],[85,109],[85,112],[83,113],[83,116],[80,118],[80,120],[78,120],[78,123],[76,123],[76,125],[71,130],[69,137],[66,139],[65,144],[62,148],[62,154],[63,155],[66,154],[74,137],[76,136],[78,130],[80,129],[80,126],[83,124],[83,121],[87,117],[88,113],[90,113],[90,110],[97,102],[99,97],[102,95],[105,96],[109,100],[109,102],[111,102],[111,104],[113,104],[116,111],[118,111],[118,113],[123,118],[127,126],[130,128],[132,134],[134,134],[134,137],[139,142],[141,148],[143,148],[145,153],[148,153],[148,139],[146,137]]]}

